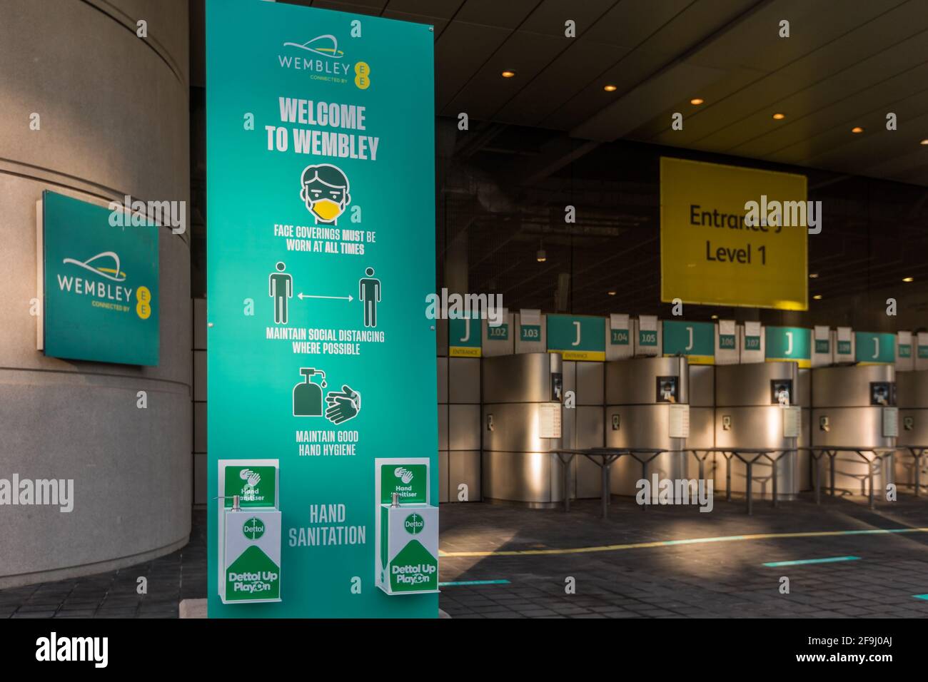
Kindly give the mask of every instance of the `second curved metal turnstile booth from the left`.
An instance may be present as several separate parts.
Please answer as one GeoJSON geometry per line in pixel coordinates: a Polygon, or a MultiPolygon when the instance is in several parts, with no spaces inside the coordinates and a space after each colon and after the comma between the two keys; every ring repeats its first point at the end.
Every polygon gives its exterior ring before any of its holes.
{"type": "MultiPolygon", "coordinates": [[[[637,357],[606,363],[606,446],[667,450],[651,459],[648,476],[687,477],[690,372],[685,357],[637,357]]],[[[622,457],[612,494],[636,495],[641,463],[622,457]]],[[[656,491],[653,491],[656,495],[656,491]]]]}

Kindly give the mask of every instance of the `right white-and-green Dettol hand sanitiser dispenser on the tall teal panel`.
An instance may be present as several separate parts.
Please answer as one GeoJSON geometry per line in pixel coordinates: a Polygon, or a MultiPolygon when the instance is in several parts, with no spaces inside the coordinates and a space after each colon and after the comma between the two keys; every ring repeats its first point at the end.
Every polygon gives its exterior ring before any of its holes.
{"type": "Polygon", "coordinates": [[[377,586],[388,595],[438,591],[438,508],[429,459],[377,459],[377,586]]]}

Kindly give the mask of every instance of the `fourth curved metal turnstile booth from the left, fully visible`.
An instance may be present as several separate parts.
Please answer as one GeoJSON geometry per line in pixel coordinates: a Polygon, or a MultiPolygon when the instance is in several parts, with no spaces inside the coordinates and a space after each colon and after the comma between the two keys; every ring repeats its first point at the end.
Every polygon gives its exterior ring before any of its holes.
{"type": "MultiPolygon", "coordinates": [[[[837,490],[866,495],[867,460],[874,462],[876,488],[885,490],[887,483],[894,482],[894,458],[883,448],[896,446],[895,405],[896,368],[892,365],[812,369],[812,445],[835,449],[837,490]]],[[[821,470],[823,476],[828,475],[824,464],[821,470]]]]}

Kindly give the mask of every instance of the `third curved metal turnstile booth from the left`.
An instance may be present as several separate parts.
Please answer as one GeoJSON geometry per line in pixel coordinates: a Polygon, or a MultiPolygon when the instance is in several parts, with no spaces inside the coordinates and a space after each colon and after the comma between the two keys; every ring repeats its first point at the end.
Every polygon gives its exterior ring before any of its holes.
{"type": "MultiPolygon", "coordinates": [[[[794,362],[720,365],[715,367],[715,446],[771,448],[783,450],[777,459],[777,482],[767,457],[757,457],[752,466],[752,493],[778,499],[793,499],[801,490],[802,469],[808,455],[795,451],[801,435],[799,370],[794,362]]],[[[747,466],[739,457],[730,458],[732,492],[747,491],[747,466]]],[[[715,487],[727,489],[724,466],[716,469],[715,487]]]]}

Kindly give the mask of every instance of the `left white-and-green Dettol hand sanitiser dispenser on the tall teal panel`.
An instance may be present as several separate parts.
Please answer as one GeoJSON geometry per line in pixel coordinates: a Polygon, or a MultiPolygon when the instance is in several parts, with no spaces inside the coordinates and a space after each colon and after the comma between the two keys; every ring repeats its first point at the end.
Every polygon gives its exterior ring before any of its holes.
{"type": "Polygon", "coordinates": [[[277,459],[221,459],[219,596],[223,603],[280,601],[277,459]]]}

